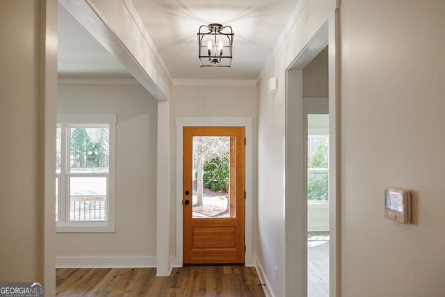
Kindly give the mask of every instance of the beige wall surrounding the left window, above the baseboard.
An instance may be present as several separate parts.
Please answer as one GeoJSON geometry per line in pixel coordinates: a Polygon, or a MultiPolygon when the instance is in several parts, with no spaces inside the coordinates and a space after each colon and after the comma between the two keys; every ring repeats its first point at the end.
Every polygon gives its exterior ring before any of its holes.
{"type": "Polygon", "coordinates": [[[56,255],[67,257],[58,265],[71,257],[125,265],[133,259],[124,257],[136,257],[141,266],[156,266],[156,99],[140,85],[59,84],[58,113],[118,115],[116,232],[58,233],[56,255]]]}

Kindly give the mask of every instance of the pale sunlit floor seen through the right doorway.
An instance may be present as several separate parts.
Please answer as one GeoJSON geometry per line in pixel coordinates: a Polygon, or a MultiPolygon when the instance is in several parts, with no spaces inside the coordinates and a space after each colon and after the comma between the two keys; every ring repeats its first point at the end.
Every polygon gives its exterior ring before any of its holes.
{"type": "Polygon", "coordinates": [[[329,297],[329,232],[307,232],[307,296],[329,297]]]}

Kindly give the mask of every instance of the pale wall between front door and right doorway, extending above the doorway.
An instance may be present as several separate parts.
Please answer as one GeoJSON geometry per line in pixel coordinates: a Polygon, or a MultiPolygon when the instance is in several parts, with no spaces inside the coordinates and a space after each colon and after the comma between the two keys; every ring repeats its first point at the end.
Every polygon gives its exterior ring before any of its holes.
{"type": "MultiPolygon", "coordinates": [[[[259,77],[257,245],[259,266],[266,287],[273,296],[301,296],[298,292],[305,283],[298,274],[298,267],[302,265],[298,263],[301,256],[296,255],[296,250],[286,251],[289,242],[298,244],[293,235],[297,231],[287,227],[286,223],[295,220],[298,215],[296,211],[300,211],[295,202],[291,207],[285,203],[286,68],[334,13],[335,7],[336,1],[331,0],[299,1],[280,36],[280,42],[275,45],[272,60],[261,70],[259,77]],[[275,95],[268,93],[270,77],[278,78],[275,95]],[[292,259],[286,258],[287,255],[293,255],[292,259]]],[[[301,127],[289,129],[299,131],[301,127]]]]}

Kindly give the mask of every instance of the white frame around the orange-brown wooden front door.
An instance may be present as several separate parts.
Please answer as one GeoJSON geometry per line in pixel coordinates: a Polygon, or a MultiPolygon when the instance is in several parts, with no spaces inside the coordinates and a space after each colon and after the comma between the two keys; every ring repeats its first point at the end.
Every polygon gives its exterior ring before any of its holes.
{"type": "Polygon", "coordinates": [[[176,257],[172,266],[183,264],[182,148],[184,127],[245,127],[245,266],[254,266],[252,255],[252,125],[251,117],[177,117],[176,125],[176,257]]]}

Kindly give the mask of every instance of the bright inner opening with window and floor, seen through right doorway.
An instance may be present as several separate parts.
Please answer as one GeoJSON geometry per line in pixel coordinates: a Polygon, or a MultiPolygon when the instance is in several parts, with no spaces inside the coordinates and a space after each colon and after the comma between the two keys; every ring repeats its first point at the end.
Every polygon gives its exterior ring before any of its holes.
{"type": "Polygon", "coordinates": [[[307,120],[307,296],[328,297],[330,234],[327,98],[304,98],[303,110],[307,120]],[[307,104],[307,100],[312,100],[312,103],[316,100],[321,104],[307,104]],[[312,110],[308,110],[308,106],[312,106],[312,110]]]}

